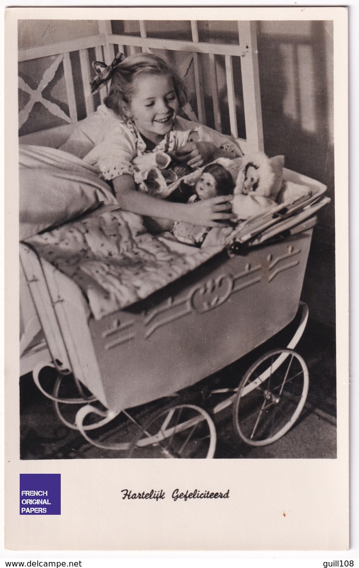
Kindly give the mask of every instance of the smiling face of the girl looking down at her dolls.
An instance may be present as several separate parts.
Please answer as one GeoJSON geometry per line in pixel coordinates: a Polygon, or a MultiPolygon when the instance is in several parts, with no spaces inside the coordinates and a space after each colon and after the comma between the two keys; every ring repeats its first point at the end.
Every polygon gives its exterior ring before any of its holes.
{"type": "Polygon", "coordinates": [[[159,144],[170,132],[178,111],[179,102],[170,75],[136,77],[126,114],[143,136],[159,144]]]}

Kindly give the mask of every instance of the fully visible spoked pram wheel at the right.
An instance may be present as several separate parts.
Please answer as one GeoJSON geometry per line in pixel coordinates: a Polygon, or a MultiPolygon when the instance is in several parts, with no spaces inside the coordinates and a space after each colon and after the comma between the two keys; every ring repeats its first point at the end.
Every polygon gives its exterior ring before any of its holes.
{"type": "Polygon", "coordinates": [[[279,440],[292,428],[306,402],[309,373],[292,349],[274,349],[248,369],[233,403],[235,430],[252,446],[279,440]]]}

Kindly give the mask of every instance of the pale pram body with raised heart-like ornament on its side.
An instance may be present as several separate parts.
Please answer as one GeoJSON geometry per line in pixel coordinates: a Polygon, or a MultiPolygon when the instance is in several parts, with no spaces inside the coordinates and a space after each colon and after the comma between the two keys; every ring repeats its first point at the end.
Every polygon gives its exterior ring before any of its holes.
{"type": "Polygon", "coordinates": [[[134,306],[96,321],[77,285],[28,249],[23,268],[49,351],[121,411],[193,385],[284,328],[298,310],[311,229],[226,251],[134,306]]]}

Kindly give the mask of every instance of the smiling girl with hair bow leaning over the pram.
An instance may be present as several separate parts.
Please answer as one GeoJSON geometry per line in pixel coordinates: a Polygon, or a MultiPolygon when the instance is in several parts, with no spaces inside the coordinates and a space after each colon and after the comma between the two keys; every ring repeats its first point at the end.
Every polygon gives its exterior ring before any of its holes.
{"type": "Polygon", "coordinates": [[[111,180],[124,210],[165,220],[163,228],[174,221],[218,227],[233,220],[228,197],[175,203],[138,191],[134,183],[132,161],[147,152],[167,152],[191,168],[221,156],[242,156],[226,136],[178,116],[187,96],[174,69],[162,57],[137,53],[116,65],[111,79],[105,105],[79,123],[61,149],[111,180]]]}

